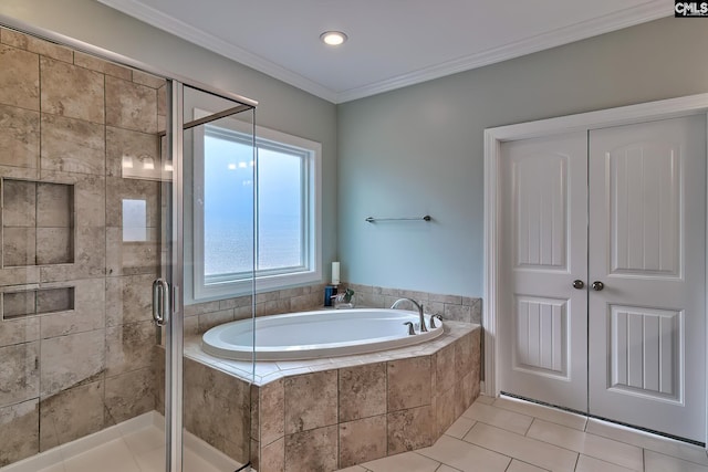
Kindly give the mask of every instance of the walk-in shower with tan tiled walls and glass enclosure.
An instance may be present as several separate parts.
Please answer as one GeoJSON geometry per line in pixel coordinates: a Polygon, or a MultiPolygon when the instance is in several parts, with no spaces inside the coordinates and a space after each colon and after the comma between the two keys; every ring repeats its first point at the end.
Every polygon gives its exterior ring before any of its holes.
{"type": "MultiPolygon", "coordinates": [[[[167,470],[183,470],[183,431],[248,463],[250,390],[205,428],[195,412],[223,401],[189,395],[209,379],[184,374],[181,348],[185,331],[253,313],[249,293],[211,302],[219,319],[184,300],[205,243],[205,129],[238,122],[252,141],[256,104],[0,24],[0,468],[163,413],[167,470]]],[[[253,191],[240,195],[252,266],[253,191]]]]}

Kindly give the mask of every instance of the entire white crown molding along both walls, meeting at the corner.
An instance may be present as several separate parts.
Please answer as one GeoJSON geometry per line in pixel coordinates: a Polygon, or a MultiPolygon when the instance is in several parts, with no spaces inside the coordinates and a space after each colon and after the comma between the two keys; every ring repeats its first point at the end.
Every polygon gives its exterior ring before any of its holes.
{"type": "Polygon", "coordinates": [[[281,67],[280,65],[257,54],[252,54],[242,48],[230,44],[165,13],[146,7],[137,0],[98,1],[155,28],[167,31],[170,34],[335,104],[365,98],[367,96],[389,92],[396,88],[403,88],[434,78],[444,77],[446,75],[456,74],[458,72],[482,67],[485,65],[499,63],[574,41],[621,30],[623,28],[657,20],[659,18],[670,15],[674,11],[670,0],[652,0],[639,7],[628,8],[583,21],[581,23],[559,28],[535,36],[514,41],[499,48],[489,49],[465,57],[421,69],[409,74],[398,75],[362,87],[350,88],[337,93],[322,84],[311,81],[310,78],[303,77],[293,71],[281,67]]]}

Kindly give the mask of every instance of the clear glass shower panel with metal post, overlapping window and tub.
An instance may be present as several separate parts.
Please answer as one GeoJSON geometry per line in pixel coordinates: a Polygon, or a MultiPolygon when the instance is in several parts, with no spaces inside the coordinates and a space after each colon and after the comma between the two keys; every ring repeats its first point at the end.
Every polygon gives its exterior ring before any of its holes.
{"type": "Polygon", "coordinates": [[[153,302],[165,325],[165,470],[248,470],[253,363],[209,356],[200,340],[212,326],[253,321],[254,104],[174,81],[167,91],[153,302]]]}

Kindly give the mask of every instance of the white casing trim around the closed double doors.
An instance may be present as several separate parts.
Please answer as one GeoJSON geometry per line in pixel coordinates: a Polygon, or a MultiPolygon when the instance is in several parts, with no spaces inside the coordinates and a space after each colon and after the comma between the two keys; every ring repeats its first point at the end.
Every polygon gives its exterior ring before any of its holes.
{"type": "MultiPolygon", "coordinates": [[[[482,323],[485,325],[485,384],[483,388],[488,395],[498,395],[501,389],[500,378],[501,363],[503,354],[499,343],[501,328],[500,307],[503,305],[502,298],[508,293],[500,261],[502,260],[502,192],[501,183],[501,145],[506,141],[544,137],[561,133],[586,132],[591,128],[618,126],[650,119],[665,119],[695,114],[705,114],[708,109],[708,94],[671,98],[639,105],[632,105],[620,108],[612,108],[598,112],[584,113],[580,115],[564,116],[560,118],[544,119],[540,122],[523,123],[518,125],[490,128],[485,132],[485,306],[482,323]]],[[[701,176],[705,178],[705,174],[701,176]]],[[[705,203],[705,199],[704,199],[705,203]]],[[[704,250],[706,241],[704,240],[704,250]]],[[[705,268],[705,259],[696,258],[705,268]]],[[[592,281],[590,281],[592,282],[592,281]]],[[[701,298],[705,301],[705,293],[701,298]]],[[[615,310],[616,316],[620,312],[615,310]]],[[[694,329],[694,335],[700,338],[701,346],[705,345],[706,331],[694,329]]],[[[691,355],[699,357],[705,363],[705,349],[702,355],[691,355]]],[[[701,389],[705,391],[705,389],[701,389]]],[[[702,396],[702,409],[705,411],[706,397],[702,396]]],[[[698,401],[701,401],[699,399],[698,401]]],[[[704,413],[705,416],[705,413],[704,413]]],[[[705,422],[705,421],[704,421],[705,422]]],[[[698,440],[705,441],[706,433],[698,440]]]]}

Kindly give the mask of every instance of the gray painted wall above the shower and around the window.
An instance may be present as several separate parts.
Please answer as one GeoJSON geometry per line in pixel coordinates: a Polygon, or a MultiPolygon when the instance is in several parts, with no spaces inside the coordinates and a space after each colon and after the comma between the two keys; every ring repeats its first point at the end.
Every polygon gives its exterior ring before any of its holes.
{"type": "MultiPolygon", "coordinates": [[[[322,143],[324,273],[336,254],[336,107],[94,0],[2,0],[0,14],[259,102],[258,125],[322,143]]],[[[238,21],[235,19],[235,28],[238,21]]]]}

